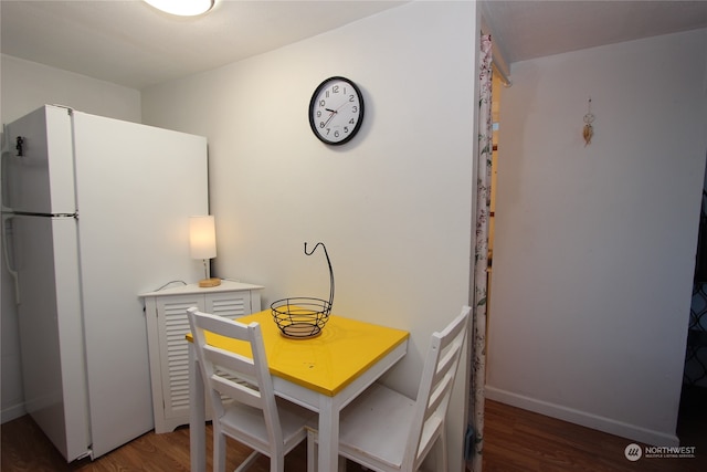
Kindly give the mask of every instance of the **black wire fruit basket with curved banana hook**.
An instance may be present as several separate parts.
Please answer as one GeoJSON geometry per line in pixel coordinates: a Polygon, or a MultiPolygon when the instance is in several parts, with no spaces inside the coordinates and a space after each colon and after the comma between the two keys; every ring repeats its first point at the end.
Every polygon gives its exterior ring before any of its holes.
{"type": "Polygon", "coordinates": [[[273,302],[270,307],[275,324],[283,336],[294,339],[313,338],[321,334],[324,325],[329,321],[334,303],[334,270],[331,270],[327,247],[319,242],[312,251],[307,252],[307,243],[305,242],[305,254],[312,255],[318,247],[324,250],[329,266],[329,300],[295,296],[273,302]]]}

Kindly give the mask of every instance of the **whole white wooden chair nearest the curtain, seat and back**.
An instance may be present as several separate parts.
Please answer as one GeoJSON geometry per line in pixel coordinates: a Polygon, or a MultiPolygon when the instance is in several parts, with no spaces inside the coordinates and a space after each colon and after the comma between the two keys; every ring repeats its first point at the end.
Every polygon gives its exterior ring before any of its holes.
{"type": "MultiPolygon", "coordinates": [[[[469,312],[464,306],[442,333],[432,334],[414,400],[376,382],[341,411],[339,471],[346,470],[342,458],[379,472],[418,471],[435,445],[435,472],[449,471],[444,419],[469,312]]],[[[307,430],[307,471],[313,472],[318,437],[316,428],[307,430]]]]}

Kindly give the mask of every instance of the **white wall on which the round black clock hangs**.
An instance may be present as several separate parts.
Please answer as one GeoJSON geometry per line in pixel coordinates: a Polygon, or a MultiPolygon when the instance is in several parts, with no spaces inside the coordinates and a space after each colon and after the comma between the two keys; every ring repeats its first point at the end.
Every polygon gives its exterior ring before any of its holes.
{"type": "MultiPolygon", "coordinates": [[[[334,312],[411,332],[387,381],[413,396],[430,334],[468,302],[475,9],[413,2],[143,93],[145,123],[209,138],[214,273],[264,285],[264,306],[326,297],[324,255],[303,253],[305,241],[324,241],[334,312]],[[317,140],[307,119],[312,93],[333,75],[366,101],[361,132],[341,147],[317,140]]],[[[458,389],[454,400],[457,470],[458,389]]]]}

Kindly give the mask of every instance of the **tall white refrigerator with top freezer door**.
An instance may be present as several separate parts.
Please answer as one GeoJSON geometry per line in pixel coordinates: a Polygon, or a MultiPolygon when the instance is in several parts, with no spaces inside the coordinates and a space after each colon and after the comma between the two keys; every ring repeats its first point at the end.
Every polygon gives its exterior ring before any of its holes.
{"type": "Polygon", "coordinates": [[[97,458],[154,428],[138,294],[201,276],[207,140],[60,106],[3,132],[25,408],[68,462],[97,458]]]}

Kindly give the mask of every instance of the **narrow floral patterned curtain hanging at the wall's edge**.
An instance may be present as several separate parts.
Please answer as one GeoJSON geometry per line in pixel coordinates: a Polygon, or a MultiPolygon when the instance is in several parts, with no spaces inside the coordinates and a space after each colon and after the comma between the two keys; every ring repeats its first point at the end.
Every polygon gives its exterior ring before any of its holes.
{"type": "Polygon", "coordinates": [[[484,450],[484,384],[486,378],[486,282],[488,269],[488,217],[490,206],[492,172],[492,53],[490,35],[483,35],[479,54],[478,98],[478,177],[476,181],[476,244],[474,250],[474,311],[472,391],[469,392],[469,419],[473,428],[473,455],[467,458],[467,469],[482,472],[484,450]]]}

